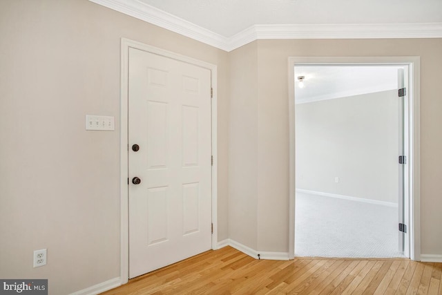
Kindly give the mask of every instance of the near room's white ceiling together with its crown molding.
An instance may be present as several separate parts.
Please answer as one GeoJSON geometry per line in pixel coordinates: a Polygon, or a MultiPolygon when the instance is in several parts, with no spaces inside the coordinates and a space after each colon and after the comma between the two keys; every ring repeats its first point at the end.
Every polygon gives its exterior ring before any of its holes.
{"type": "Polygon", "coordinates": [[[442,37],[442,0],[89,1],[226,51],[257,39],[442,37]]]}

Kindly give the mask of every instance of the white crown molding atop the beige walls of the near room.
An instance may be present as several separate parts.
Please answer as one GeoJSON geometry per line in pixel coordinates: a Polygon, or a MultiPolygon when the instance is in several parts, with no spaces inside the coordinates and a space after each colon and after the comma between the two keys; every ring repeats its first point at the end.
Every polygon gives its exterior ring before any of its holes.
{"type": "Polygon", "coordinates": [[[231,37],[202,28],[137,0],[89,0],[204,44],[231,51],[258,39],[442,38],[442,23],[254,25],[231,37]]]}

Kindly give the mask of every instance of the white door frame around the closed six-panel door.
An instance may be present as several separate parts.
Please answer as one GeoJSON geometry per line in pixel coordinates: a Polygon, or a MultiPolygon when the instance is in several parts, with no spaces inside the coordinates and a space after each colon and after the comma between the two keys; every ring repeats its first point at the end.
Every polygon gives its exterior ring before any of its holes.
{"type": "MultiPolygon", "coordinates": [[[[212,249],[218,244],[218,218],[217,218],[217,66],[206,63],[198,59],[179,55],[171,51],[163,50],[146,44],[142,44],[130,39],[121,39],[121,92],[120,92],[120,280],[121,284],[128,282],[129,278],[129,239],[128,239],[128,52],[129,48],[136,48],[169,57],[179,61],[184,61],[211,71],[211,87],[213,88],[213,98],[211,101],[211,133],[212,133],[212,249]]],[[[210,159],[207,159],[208,161],[210,159]]]]}

